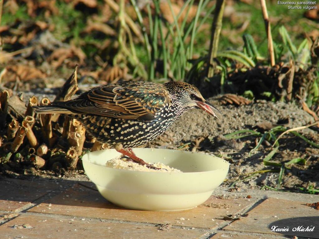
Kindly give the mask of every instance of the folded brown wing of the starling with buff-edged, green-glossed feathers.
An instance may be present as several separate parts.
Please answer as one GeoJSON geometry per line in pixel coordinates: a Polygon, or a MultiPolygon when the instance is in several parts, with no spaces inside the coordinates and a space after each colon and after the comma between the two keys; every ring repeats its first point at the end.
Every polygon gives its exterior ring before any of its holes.
{"type": "Polygon", "coordinates": [[[148,121],[168,104],[165,86],[131,82],[95,87],[64,106],[81,113],[148,121]]]}

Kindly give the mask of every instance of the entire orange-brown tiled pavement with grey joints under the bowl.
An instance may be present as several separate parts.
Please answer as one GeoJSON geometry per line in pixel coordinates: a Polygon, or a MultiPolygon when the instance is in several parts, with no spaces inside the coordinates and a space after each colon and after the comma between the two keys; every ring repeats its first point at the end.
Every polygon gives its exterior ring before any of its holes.
{"type": "Polygon", "coordinates": [[[151,212],[115,206],[87,181],[0,178],[0,238],[319,238],[319,211],[306,205],[317,201],[318,195],[219,187],[196,208],[151,212]]]}

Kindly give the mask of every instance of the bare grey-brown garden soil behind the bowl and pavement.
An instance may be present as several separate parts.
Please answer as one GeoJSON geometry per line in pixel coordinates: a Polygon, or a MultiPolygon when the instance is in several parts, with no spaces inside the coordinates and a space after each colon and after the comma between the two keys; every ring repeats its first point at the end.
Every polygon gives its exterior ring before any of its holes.
{"type": "MultiPolygon", "coordinates": [[[[58,82],[58,81],[57,81],[58,82]]],[[[92,87],[92,85],[90,85],[92,87]]],[[[80,89],[89,87],[81,85],[80,89]]],[[[24,92],[24,100],[32,95],[53,99],[57,88],[36,89],[24,92]]],[[[264,157],[273,149],[273,141],[264,143],[251,155],[249,152],[259,141],[258,136],[227,140],[223,135],[242,129],[254,129],[262,134],[270,128],[284,122],[285,127],[293,128],[314,122],[312,116],[296,104],[283,102],[257,101],[250,105],[220,105],[218,97],[209,101],[223,112],[216,120],[201,110],[185,113],[165,134],[146,147],[182,149],[199,153],[213,154],[224,158],[230,163],[227,180],[224,185],[232,186],[230,190],[260,189],[264,185],[276,187],[280,167],[264,166],[264,157]],[[260,170],[274,169],[275,172],[256,173],[260,170]],[[251,176],[249,178],[246,178],[251,176]],[[234,183],[234,184],[233,184],[234,183]],[[233,185],[232,185],[233,184],[233,185]]],[[[319,143],[318,128],[308,128],[299,131],[309,140],[319,143]]],[[[278,135],[277,135],[278,136],[278,135]]],[[[306,165],[293,164],[285,170],[280,190],[300,192],[299,187],[307,188],[319,184],[319,149],[312,147],[293,134],[286,134],[279,140],[280,147],[271,161],[285,163],[293,158],[305,158],[306,165]]],[[[13,172],[11,176],[23,177],[13,172]]],[[[40,177],[83,178],[83,170],[65,171],[57,175],[52,171],[36,170],[30,174],[40,177]]],[[[7,174],[8,175],[8,174],[7,174]]]]}

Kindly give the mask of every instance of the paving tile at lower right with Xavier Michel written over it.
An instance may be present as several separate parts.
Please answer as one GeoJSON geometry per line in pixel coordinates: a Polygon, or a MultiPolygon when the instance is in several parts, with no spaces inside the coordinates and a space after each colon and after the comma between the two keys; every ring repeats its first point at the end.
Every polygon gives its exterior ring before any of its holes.
{"type": "Polygon", "coordinates": [[[305,202],[269,198],[248,214],[248,217],[234,221],[224,229],[319,238],[319,211],[306,206],[305,202]],[[294,228],[299,226],[314,227],[314,231],[296,231],[294,228]],[[288,228],[288,231],[276,232],[272,228],[288,228]]]}

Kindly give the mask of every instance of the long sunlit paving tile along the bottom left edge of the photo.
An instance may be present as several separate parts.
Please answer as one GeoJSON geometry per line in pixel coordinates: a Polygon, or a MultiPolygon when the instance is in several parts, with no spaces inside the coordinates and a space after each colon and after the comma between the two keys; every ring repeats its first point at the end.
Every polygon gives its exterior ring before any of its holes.
{"type": "Polygon", "coordinates": [[[0,226],[1,238],[15,239],[43,239],[43,238],[68,238],[68,239],[196,239],[205,232],[170,228],[168,231],[158,230],[155,226],[132,225],[127,223],[110,223],[98,220],[82,220],[83,218],[62,218],[45,214],[20,215],[19,217],[0,226]],[[28,224],[32,228],[12,228],[13,225],[28,224]]]}

